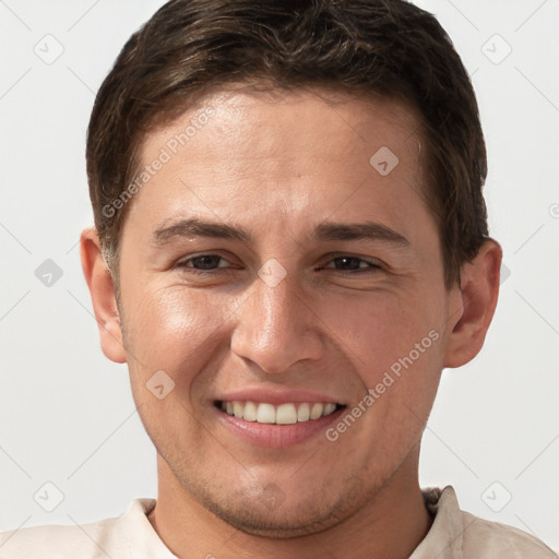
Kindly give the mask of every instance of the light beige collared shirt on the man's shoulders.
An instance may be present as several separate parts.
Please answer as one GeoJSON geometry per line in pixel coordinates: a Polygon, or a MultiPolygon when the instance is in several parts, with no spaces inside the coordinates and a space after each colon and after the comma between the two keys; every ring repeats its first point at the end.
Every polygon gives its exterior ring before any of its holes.
{"type": "MultiPolygon", "coordinates": [[[[533,536],[459,508],[452,487],[424,491],[435,516],[409,559],[557,559],[533,536]]],[[[33,526],[0,534],[1,559],[176,559],[147,520],[155,499],[134,499],[117,519],[33,526]]]]}

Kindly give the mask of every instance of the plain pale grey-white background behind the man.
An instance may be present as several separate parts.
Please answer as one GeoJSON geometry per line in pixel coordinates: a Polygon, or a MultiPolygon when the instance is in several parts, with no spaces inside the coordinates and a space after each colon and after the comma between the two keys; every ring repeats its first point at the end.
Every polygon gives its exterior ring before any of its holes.
{"type": "MultiPolygon", "coordinates": [[[[443,373],[421,485],[452,484],[463,509],[557,549],[559,0],[418,3],[473,76],[506,264],[485,348],[443,373]]],[[[95,92],[162,4],[0,1],[0,531],[116,516],[156,496],[155,450],[126,366],[99,349],[76,243],[93,223],[84,146],[95,92]]]]}

